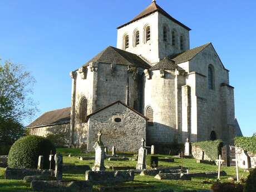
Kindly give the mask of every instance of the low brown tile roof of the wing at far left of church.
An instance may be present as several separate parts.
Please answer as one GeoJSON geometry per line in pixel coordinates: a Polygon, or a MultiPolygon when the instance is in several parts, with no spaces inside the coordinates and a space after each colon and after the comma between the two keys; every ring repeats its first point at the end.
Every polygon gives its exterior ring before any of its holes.
{"type": "Polygon", "coordinates": [[[29,124],[27,128],[68,124],[70,123],[70,111],[71,107],[45,112],[45,114],[29,124]]]}

